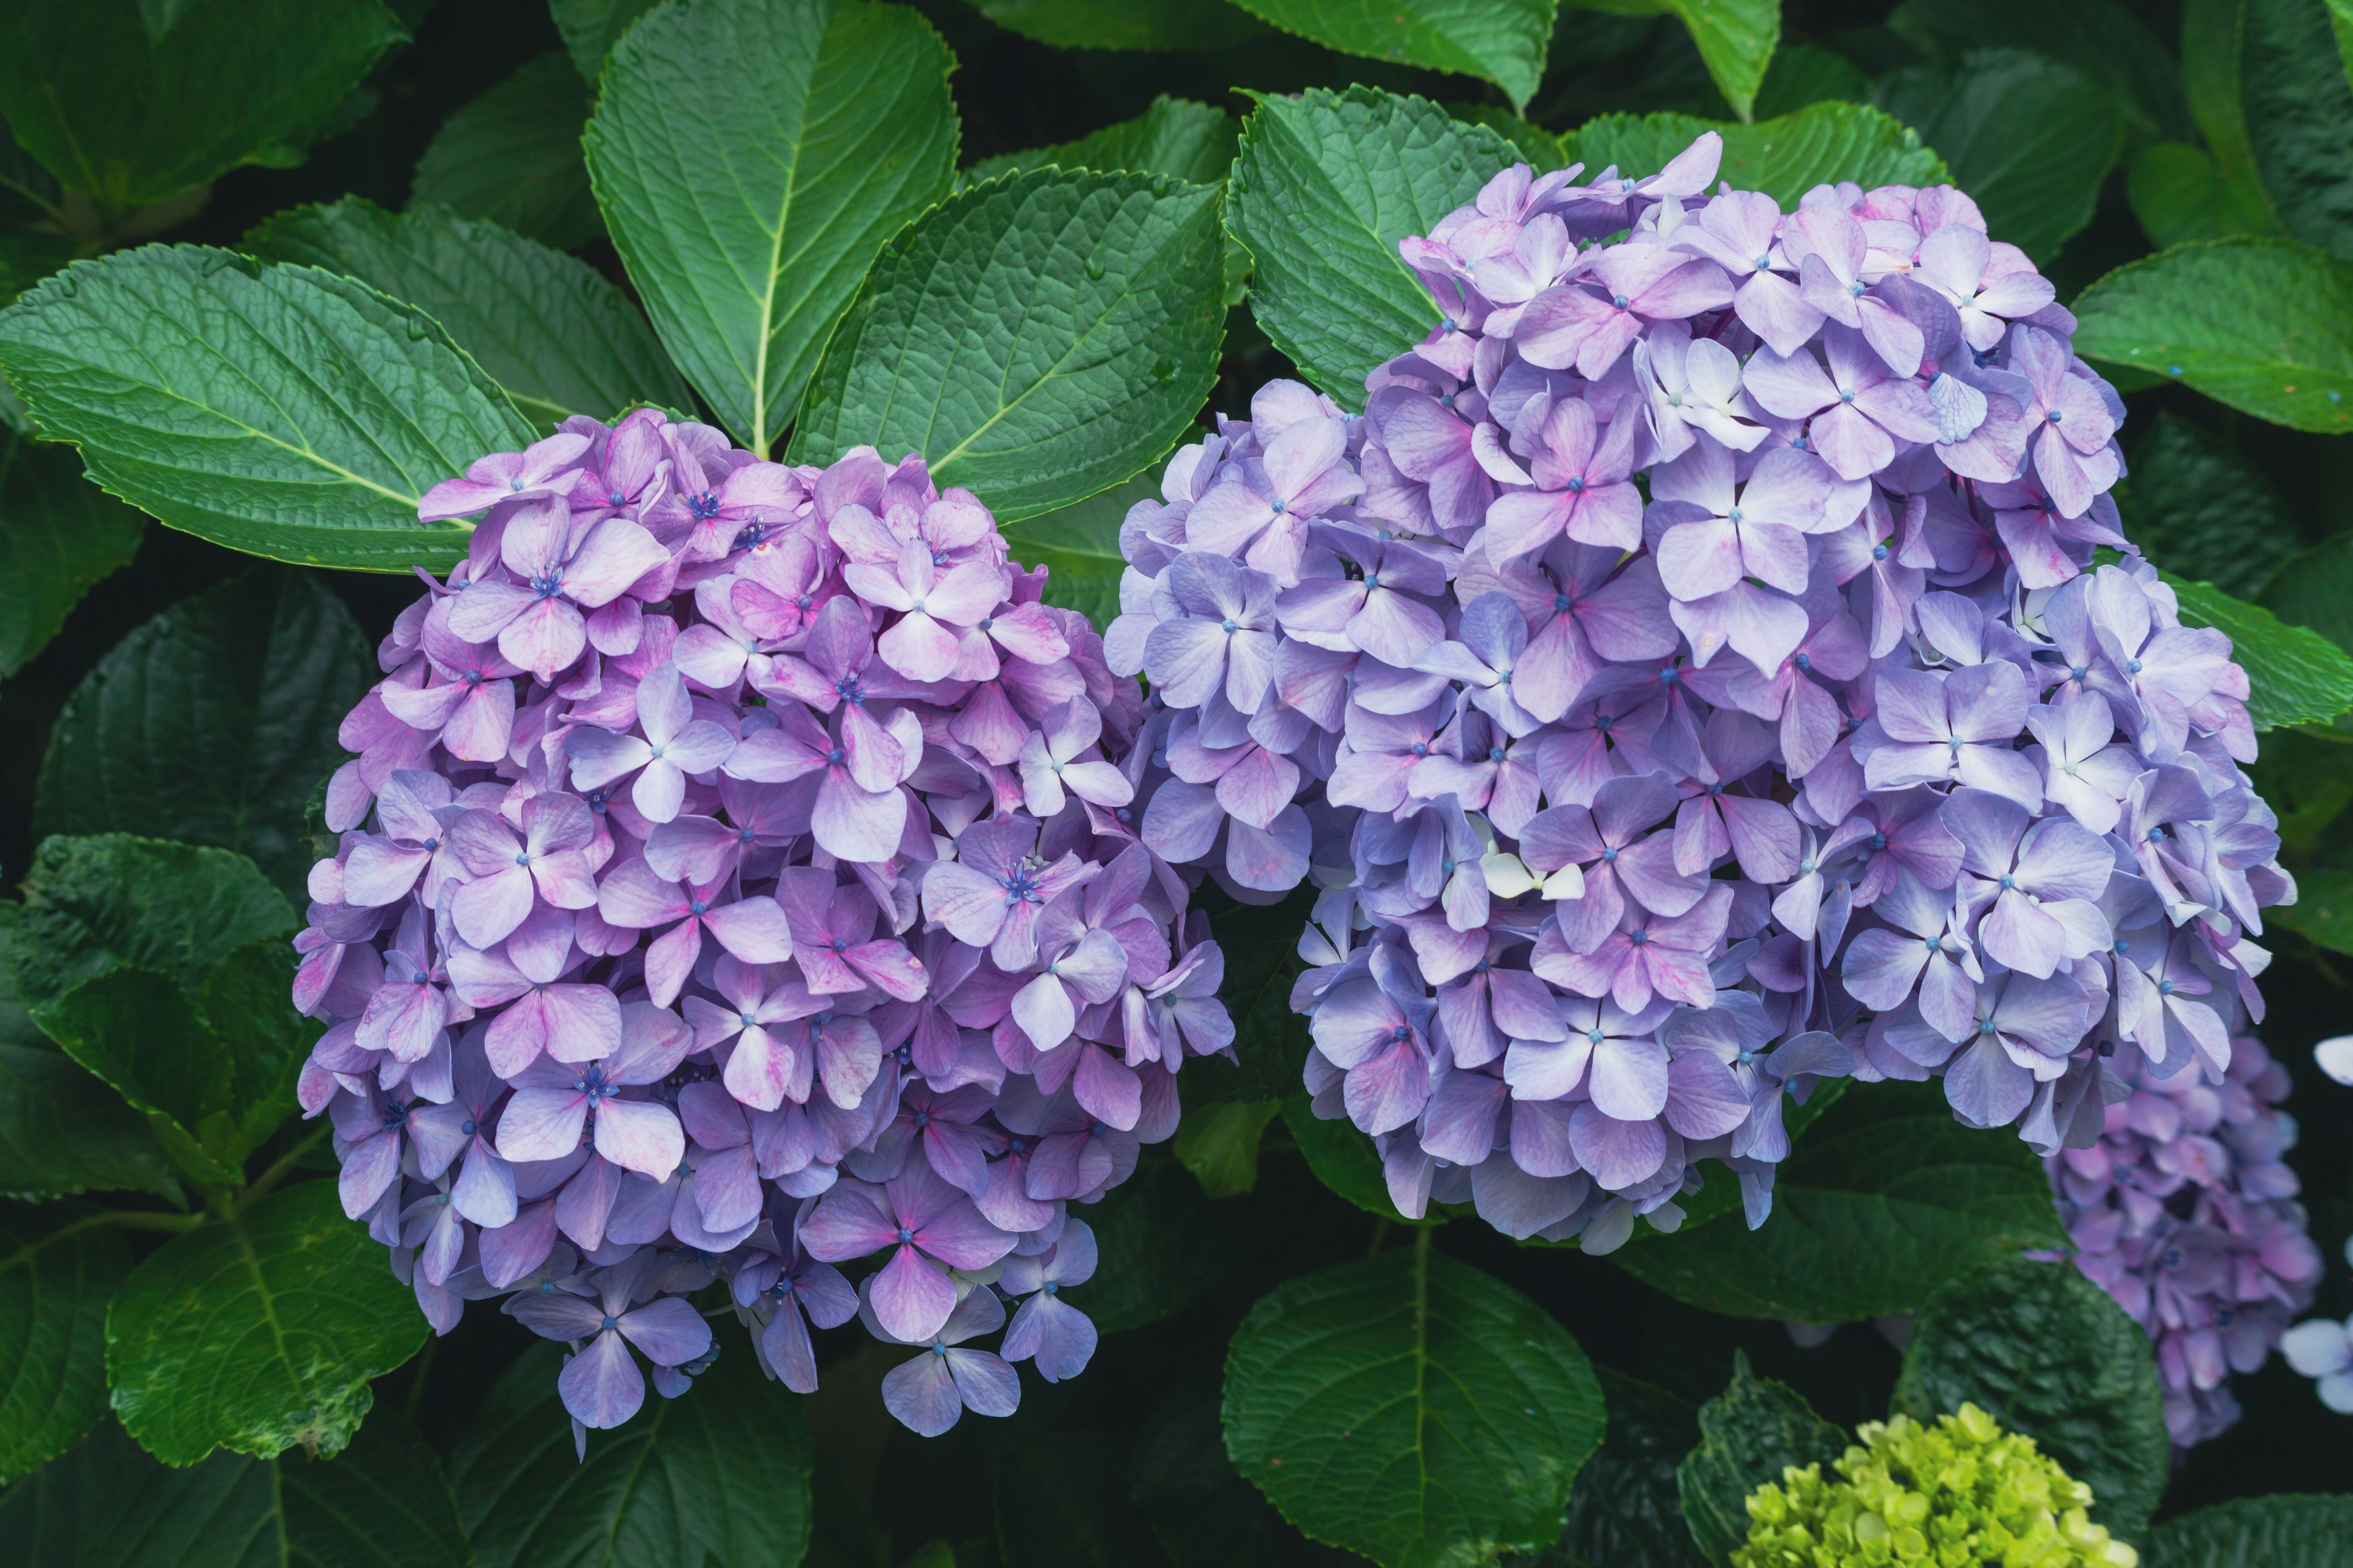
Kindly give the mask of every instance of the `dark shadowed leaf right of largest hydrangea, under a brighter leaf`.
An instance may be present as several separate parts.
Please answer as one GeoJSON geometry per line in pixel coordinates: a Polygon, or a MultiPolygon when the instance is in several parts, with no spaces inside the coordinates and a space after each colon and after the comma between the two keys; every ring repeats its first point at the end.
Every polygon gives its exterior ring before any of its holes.
{"type": "Polygon", "coordinates": [[[2240,599],[2261,595],[2297,552],[2297,522],[2271,477],[2235,444],[2174,411],[2158,414],[2134,442],[2132,477],[2115,503],[2148,559],[2240,599]]]}

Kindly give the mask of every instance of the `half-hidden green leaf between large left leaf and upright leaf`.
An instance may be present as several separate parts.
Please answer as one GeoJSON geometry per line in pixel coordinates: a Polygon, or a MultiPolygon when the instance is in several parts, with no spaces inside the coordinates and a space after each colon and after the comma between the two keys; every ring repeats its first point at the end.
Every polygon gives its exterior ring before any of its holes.
{"type": "Polygon", "coordinates": [[[541,428],[572,414],[612,418],[640,402],[680,409],[694,400],[621,289],[586,261],[496,223],[447,207],[384,212],[353,195],[282,212],[245,235],[245,249],[344,273],[416,306],[541,428]]]}

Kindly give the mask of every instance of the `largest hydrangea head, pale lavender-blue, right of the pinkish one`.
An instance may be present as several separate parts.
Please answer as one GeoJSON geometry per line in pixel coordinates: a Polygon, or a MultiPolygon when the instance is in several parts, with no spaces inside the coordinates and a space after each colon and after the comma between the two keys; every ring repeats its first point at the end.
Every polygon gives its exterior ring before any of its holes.
{"type": "Polygon", "coordinates": [[[2052,284],[1953,188],[1781,212],[1718,158],[1405,240],[1440,327],[1360,418],[1275,383],[1179,451],[1106,632],[1144,842],[1322,889],[1318,1112],[1402,1211],[1588,1251],[1701,1157],[1762,1222],[1824,1077],[2097,1140],[2111,1041],[2228,1067],[2294,896],[2052,284]]]}

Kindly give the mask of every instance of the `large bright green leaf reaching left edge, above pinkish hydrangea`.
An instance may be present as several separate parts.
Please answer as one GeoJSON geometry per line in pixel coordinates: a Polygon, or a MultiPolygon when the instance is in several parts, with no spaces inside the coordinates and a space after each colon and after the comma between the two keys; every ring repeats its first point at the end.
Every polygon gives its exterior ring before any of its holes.
{"type": "Polygon", "coordinates": [[[468,527],[424,494],[532,428],[421,310],[313,268],[151,244],[0,313],[42,433],[174,529],[320,567],[442,569],[468,527]]]}

